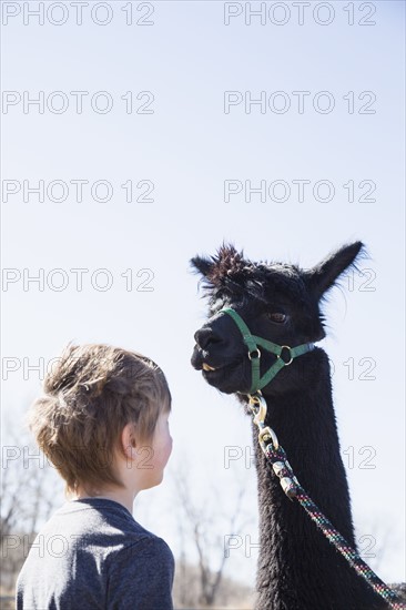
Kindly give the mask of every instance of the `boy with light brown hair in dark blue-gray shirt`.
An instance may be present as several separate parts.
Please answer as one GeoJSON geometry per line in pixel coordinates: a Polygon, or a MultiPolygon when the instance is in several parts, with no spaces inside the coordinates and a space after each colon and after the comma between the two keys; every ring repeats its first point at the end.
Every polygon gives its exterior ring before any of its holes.
{"type": "Polygon", "coordinates": [[[132,517],[172,450],[162,370],[106,345],[69,346],[31,407],[37,443],[65,481],[17,582],[18,610],[170,610],[174,560],[132,517]]]}

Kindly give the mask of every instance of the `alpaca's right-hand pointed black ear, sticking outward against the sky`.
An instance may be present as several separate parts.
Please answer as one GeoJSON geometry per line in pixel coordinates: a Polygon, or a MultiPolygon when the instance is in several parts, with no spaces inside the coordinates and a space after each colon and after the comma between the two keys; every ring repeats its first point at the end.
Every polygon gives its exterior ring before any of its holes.
{"type": "Polygon", "coordinates": [[[324,261],[306,272],[306,283],[317,301],[334,286],[348,267],[355,265],[358,255],[364,253],[364,244],[354,242],[329,254],[324,261]]]}

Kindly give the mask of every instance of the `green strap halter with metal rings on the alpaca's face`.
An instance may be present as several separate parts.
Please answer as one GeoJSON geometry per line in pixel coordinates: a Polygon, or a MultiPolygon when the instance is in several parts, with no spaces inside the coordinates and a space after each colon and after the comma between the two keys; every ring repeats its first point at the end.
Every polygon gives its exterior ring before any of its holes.
{"type": "Polygon", "coordinates": [[[252,364],[252,385],[250,394],[255,394],[255,392],[258,392],[265,387],[284,366],[288,366],[292,364],[294,358],[302,356],[302,354],[306,354],[314,348],[313,343],[304,343],[303,345],[297,345],[296,347],[290,347],[288,345],[276,345],[276,343],[272,343],[271,340],[252,335],[250,328],[240,314],[234,312],[231,307],[224,307],[223,309],[220,309],[219,314],[220,313],[229,314],[233,318],[243,335],[245,345],[248,348],[248,358],[252,364]],[[258,349],[258,345],[266,349],[266,352],[271,352],[277,356],[276,362],[262,377],[260,373],[261,352],[258,349]],[[284,360],[282,358],[282,352],[284,349],[288,352],[288,360],[284,360]]]}

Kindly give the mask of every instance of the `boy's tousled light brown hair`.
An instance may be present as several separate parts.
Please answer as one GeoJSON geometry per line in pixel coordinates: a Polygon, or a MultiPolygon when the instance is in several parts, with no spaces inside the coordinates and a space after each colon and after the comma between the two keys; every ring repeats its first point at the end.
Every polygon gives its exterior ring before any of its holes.
{"type": "Polygon", "coordinates": [[[123,428],[144,445],[171,409],[164,374],[150,358],[108,345],[68,346],[47,375],[45,396],[29,413],[37,443],[65,480],[78,487],[123,487],[114,460],[123,428]]]}

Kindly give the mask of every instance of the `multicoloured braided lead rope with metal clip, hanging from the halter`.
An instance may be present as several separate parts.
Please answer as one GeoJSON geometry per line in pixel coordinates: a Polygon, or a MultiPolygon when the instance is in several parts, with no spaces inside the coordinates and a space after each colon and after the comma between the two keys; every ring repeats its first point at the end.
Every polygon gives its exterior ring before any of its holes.
{"type": "Polygon", "coordinates": [[[280,478],[280,484],[284,492],[291,500],[296,499],[305,509],[311,519],[323,531],[324,536],[342,553],[348,563],[355,569],[357,575],[362,576],[369,587],[374,589],[384,600],[394,608],[394,610],[404,610],[406,606],[399,601],[397,594],[390,587],[385,584],[379,577],[369,568],[353,549],[343,536],[334,528],[331,521],[323,515],[319,508],[308,497],[306,491],[298,482],[292,466],[287,461],[284,448],[278,444],[274,430],[265,426],[266,401],[261,393],[248,395],[250,408],[254,414],[254,424],[260,429],[258,441],[265,457],[272,464],[275,475],[280,478]]]}

